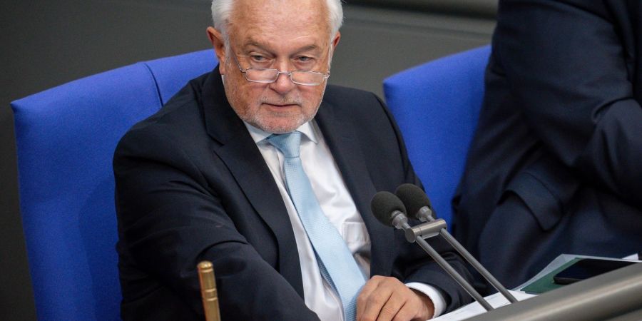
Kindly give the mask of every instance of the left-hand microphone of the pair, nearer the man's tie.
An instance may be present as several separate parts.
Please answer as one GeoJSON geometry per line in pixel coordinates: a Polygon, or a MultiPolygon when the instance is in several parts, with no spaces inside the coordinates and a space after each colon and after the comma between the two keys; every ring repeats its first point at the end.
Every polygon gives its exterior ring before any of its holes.
{"type": "Polygon", "coordinates": [[[422,238],[421,234],[418,235],[413,231],[413,228],[408,225],[404,203],[397,197],[397,195],[385,191],[377,192],[370,201],[370,208],[372,209],[374,217],[377,218],[379,222],[384,225],[397,228],[397,230],[404,230],[406,233],[406,240],[410,243],[417,241],[417,244],[419,244],[419,246],[421,246],[421,248],[450,275],[450,277],[463,287],[469,295],[474,297],[474,299],[479,302],[486,311],[493,310],[493,307],[484,300],[484,297],[479,295],[479,292],[477,292],[477,290],[475,290],[474,287],[472,287],[472,285],[470,285],[470,283],[464,279],[459,272],[457,272],[457,270],[449,265],[448,262],[444,260],[444,258],[442,258],[442,256],[439,255],[439,253],[437,253],[437,251],[434,250],[426,240],[424,240],[424,238],[422,238]],[[410,235],[414,237],[412,240],[409,240],[410,235]]]}

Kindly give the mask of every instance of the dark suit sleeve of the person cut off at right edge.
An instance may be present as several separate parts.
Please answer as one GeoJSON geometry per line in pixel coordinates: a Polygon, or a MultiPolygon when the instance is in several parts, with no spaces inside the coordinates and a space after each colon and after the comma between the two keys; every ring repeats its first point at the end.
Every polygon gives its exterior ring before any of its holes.
{"type": "Polygon", "coordinates": [[[642,205],[642,108],[625,46],[631,30],[604,2],[501,2],[494,58],[549,151],[585,182],[642,205]]]}

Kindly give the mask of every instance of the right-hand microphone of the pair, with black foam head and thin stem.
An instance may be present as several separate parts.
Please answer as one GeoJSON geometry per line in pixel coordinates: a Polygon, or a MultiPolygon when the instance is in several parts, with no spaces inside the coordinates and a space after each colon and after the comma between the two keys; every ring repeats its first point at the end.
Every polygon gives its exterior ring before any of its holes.
{"type": "MultiPolygon", "coordinates": [[[[408,213],[413,215],[414,218],[417,218],[417,220],[422,222],[433,222],[435,220],[436,214],[434,210],[432,210],[428,196],[417,185],[399,185],[395,194],[397,194],[397,197],[402,200],[402,203],[408,207],[408,213]]],[[[484,279],[486,279],[496,290],[501,292],[501,295],[504,295],[506,300],[509,300],[511,303],[517,302],[515,297],[511,295],[511,292],[506,290],[506,287],[501,285],[491,272],[486,270],[486,268],[481,265],[481,263],[479,263],[479,261],[475,259],[461,243],[455,240],[455,238],[448,233],[445,226],[439,231],[439,234],[441,234],[442,237],[446,239],[448,243],[450,243],[450,245],[452,245],[452,247],[455,248],[455,250],[457,250],[457,252],[459,252],[459,254],[461,254],[475,270],[477,270],[477,272],[479,272],[479,274],[481,274],[481,276],[484,277],[484,279]]]]}

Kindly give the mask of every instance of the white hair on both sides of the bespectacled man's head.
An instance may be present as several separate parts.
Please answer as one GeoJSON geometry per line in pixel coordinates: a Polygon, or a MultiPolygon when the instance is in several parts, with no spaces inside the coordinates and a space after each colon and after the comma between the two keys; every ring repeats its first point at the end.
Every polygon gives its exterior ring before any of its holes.
{"type": "MultiPolygon", "coordinates": [[[[225,39],[228,38],[226,29],[232,14],[234,0],[212,0],[212,21],[214,29],[220,31],[225,39]]],[[[325,0],[330,23],[330,39],[332,39],[343,24],[343,9],[341,0],[325,0]]]]}

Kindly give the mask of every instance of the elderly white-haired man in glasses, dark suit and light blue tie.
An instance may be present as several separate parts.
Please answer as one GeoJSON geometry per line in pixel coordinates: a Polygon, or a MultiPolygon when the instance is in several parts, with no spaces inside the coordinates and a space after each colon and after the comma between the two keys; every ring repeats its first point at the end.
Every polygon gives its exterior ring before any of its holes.
{"type": "Polygon", "coordinates": [[[377,190],[419,180],[382,102],[326,86],[340,1],[215,0],[212,13],[220,65],[116,150],[123,319],[202,318],[200,260],[226,321],[426,320],[468,302],[370,213],[377,190]]]}

